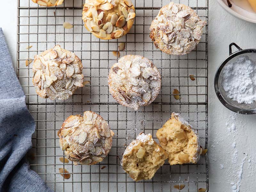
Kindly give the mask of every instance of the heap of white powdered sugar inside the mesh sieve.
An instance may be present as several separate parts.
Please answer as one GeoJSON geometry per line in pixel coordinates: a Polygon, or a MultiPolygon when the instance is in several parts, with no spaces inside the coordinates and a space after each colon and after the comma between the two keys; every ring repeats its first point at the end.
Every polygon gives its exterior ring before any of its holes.
{"type": "Polygon", "coordinates": [[[256,100],[256,66],[248,56],[239,56],[222,69],[222,87],[227,97],[238,103],[256,100]]]}

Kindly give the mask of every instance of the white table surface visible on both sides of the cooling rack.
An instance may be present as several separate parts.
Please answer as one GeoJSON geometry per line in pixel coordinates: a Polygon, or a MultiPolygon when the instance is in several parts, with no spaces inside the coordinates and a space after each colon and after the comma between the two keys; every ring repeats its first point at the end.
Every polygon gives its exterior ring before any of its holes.
{"type": "MultiPolygon", "coordinates": [[[[0,18],[0,27],[4,31],[15,66],[17,47],[15,0],[2,2],[0,18]]],[[[209,0],[210,192],[256,191],[256,115],[240,115],[229,111],[221,105],[213,88],[215,71],[228,56],[228,45],[232,42],[244,49],[256,48],[256,24],[229,15],[217,1],[209,0]],[[235,183],[237,189],[232,189],[231,183],[235,183]],[[239,185],[240,190],[238,190],[239,185]]]]}

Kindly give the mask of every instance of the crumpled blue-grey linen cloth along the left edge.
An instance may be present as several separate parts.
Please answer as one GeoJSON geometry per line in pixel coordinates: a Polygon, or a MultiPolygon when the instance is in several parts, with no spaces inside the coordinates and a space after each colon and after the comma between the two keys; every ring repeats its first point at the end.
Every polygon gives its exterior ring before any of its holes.
{"type": "Polygon", "coordinates": [[[52,192],[32,171],[25,154],[32,148],[35,122],[12,66],[0,28],[0,191],[52,192]]]}

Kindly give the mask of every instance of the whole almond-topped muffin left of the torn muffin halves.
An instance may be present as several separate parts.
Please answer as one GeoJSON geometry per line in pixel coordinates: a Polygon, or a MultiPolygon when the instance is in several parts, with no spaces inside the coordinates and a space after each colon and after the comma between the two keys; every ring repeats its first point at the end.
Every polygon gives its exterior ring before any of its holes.
{"type": "Polygon", "coordinates": [[[59,131],[60,148],[74,164],[93,165],[103,161],[112,147],[108,123],[98,114],[85,111],[71,115],[59,131]]]}

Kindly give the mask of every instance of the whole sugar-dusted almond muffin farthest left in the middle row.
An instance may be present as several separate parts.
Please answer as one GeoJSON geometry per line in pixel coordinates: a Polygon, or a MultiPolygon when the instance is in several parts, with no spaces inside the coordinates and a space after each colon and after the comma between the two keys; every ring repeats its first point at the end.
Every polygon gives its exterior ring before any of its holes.
{"type": "Polygon", "coordinates": [[[32,82],[42,98],[65,100],[84,86],[81,60],[60,45],[35,55],[32,69],[32,82]]]}

